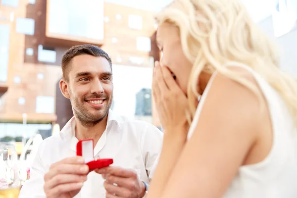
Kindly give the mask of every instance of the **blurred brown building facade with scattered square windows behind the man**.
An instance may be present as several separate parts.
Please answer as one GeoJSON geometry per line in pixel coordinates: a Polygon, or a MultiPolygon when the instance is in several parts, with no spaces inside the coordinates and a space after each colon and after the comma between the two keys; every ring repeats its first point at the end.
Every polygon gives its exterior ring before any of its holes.
{"type": "Polygon", "coordinates": [[[58,88],[65,50],[93,44],[114,65],[152,68],[160,56],[155,28],[153,12],[103,0],[0,0],[0,138],[47,131],[55,123],[62,128],[71,118],[70,101],[58,88]]]}

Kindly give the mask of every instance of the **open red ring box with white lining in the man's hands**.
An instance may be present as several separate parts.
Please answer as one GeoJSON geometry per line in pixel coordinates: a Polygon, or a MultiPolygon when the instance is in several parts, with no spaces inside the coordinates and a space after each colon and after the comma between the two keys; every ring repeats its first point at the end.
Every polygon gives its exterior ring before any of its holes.
{"type": "Polygon", "coordinates": [[[94,158],[94,140],[86,139],[81,140],[76,145],[76,155],[83,156],[85,163],[89,166],[90,172],[98,169],[109,166],[113,163],[113,159],[96,159],[94,158]]]}

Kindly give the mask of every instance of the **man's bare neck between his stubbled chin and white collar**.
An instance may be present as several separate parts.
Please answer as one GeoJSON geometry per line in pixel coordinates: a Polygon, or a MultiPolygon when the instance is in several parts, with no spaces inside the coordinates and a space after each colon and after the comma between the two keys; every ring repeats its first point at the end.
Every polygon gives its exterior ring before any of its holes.
{"type": "Polygon", "coordinates": [[[75,137],[78,140],[93,139],[94,147],[95,147],[100,137],[102,136],[103,132],[106,129],[107,117],[108,117],[108,114],[99,123],[90,127],[86,127],[82,125],[78,121],[78,119],[75,119],[76,121],[75,137]]]}

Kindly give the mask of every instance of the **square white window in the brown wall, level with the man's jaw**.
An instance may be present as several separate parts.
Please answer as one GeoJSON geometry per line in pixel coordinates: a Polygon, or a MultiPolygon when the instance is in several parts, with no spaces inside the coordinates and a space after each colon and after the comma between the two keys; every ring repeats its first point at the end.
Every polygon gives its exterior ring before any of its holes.
{"type": "Polygon", "coordinates": [[[54,113],[54,98],[50,96],[37,96],[36,113],[54,113]]]}

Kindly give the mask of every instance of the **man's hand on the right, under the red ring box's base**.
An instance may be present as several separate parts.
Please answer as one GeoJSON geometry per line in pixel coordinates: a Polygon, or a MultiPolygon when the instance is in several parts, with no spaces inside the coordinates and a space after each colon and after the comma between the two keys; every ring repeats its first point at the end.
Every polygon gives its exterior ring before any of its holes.
{"type": "Polygon", "coordinates": [[[108,166],[95,170],[101,174],[106,190],[106,198],[143,198],[145,185],[134,170],[108,166]]]}

